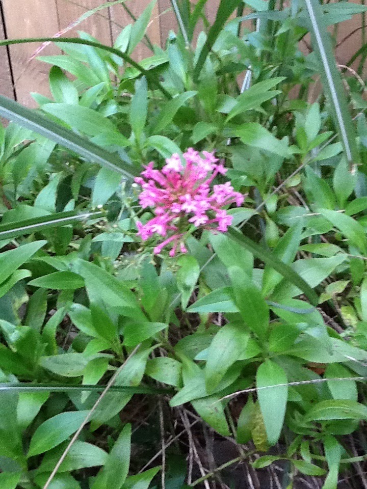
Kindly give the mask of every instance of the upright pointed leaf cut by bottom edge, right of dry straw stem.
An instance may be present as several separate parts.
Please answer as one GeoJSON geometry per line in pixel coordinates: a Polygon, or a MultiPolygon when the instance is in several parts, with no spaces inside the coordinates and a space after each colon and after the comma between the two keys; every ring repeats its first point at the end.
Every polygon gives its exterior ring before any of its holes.
{"type": "Polygon", "coordinates": [[[121,487],[128,475],[131,453],[132,427],[126,424],[109,453],[104,466],[106,487],[121,487]]]}

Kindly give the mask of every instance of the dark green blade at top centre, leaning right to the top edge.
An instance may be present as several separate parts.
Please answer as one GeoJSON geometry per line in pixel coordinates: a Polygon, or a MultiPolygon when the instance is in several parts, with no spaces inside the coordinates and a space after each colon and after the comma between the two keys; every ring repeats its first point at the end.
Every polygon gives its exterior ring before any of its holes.
{"type": "Polygon", "coordinates": [[[193,78],[194,81],[199,79],[201,70],[204,66],[206,57],[211,52],[214,43],[218,39],[219,34],[222,32],[225,23],[234,10],[242,3],[242,0],[221,0],[218,8],[217,16],[212,28],[208,32],[206,42],[200,52],[199,59],[195,65],[193,78]]]}

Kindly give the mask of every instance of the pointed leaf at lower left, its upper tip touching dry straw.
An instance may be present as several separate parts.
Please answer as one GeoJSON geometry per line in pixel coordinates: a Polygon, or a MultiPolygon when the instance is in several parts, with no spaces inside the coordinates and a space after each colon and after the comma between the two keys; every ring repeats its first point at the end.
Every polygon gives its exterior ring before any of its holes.
{"type": "Polygon", "coordinates": [[[83,423],[89,411],[69,411],[44,421],[35,431],[28,457],[44,453],[67,440],[83,423]]]}

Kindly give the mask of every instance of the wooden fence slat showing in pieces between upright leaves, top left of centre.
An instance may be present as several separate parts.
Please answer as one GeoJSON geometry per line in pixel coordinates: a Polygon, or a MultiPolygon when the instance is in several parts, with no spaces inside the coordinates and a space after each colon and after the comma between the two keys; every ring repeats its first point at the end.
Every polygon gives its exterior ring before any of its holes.
{"type": "MultiPolygon", "coordinates": [[[[148,6],[150,0],[132,0],[126,3],[126,6],[132,12],[135,17],[139,17],[139,15],[144,11],[144,9],[148,6]]],[[[122,29],[133,22],[132,18],[128,15],[122,5],[115,5],[111,7],[111,19],[112,23],[112,37],[115,41],[117,36],[120,34],[122,29]]],[[[152,17],[150,25],[147,29],[147,35],[152,44],[160,45],[161,44],[161,32],[160,32],[160,21],[159,21],[159,8],[158,4],[156,4],[153,8],[152,17]]],[[[134,53],[133,58],[135,61],[140,61],[148,56],[152,56],[151,50],[145,46],[143,43],[140,43],[134,53]]]]}

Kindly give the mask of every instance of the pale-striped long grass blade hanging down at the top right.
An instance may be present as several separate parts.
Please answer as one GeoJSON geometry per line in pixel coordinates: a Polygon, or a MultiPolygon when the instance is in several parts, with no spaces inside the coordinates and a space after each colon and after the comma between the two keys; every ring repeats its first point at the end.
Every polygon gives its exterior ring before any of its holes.
{"type": "Polygon", "coordinates": [[[337,70],[331,41],[323,21],[323,12],[318,0],[304,0],[304,2],[310,20],[313,46],[318,53],[323,68],[321,75],[324,88],[330,98],[333,115],[342,138],[349,168],[351,171],[355,171],[359,156],[352,117],[348,111],[342,77],[337,70]]]}

